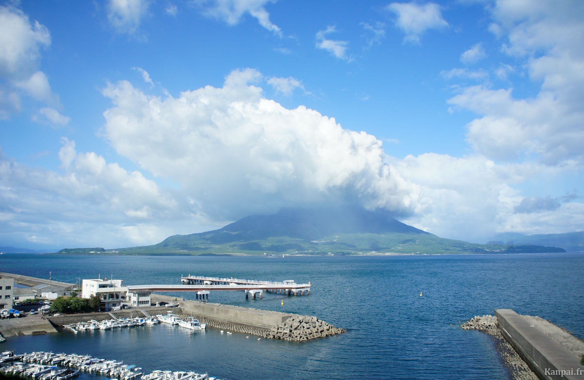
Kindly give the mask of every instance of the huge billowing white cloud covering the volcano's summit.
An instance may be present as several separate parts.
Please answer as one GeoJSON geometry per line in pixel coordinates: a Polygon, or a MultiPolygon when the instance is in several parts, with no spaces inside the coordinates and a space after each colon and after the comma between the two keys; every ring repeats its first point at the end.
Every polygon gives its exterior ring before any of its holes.
{"type": "Polygon", "coordinates": [[[127,81],[109,84],[103,95],[113,107],[103,133],[119,154],[179,182],[215,218],[346,199],[414,212],[415,186],[383,163],[381,141],[304,106],[286,109],[263,98],[249,84],[260,77],[234,71],[223,88],[166,99],[127,81]]]}

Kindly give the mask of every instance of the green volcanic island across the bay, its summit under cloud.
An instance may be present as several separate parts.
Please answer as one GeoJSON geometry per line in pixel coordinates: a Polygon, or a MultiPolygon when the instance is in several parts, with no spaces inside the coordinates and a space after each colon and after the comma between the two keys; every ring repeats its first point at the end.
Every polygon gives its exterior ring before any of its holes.
{"type": "Polygon", "coordinates": [[[399,222],[383,210],[361,208],[283,209],[244,217],[213,231],[173,235],[153,246],[65,248],[58,254],[118,255],[354,255],[560,253],[536,244],[475,244],[443,239],[399,222]]]}

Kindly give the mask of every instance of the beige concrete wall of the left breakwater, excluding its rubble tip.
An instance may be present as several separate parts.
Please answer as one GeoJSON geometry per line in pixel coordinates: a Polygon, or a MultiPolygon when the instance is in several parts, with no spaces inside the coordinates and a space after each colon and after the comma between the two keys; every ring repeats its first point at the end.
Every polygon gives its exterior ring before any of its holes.
{"type": "MultiPolygon", "coordinates": [[[[174,302],[176,297],[152,294],[152,302],[174,302]]],[[[183,301],[176,298],[183,313],[203,316],[225,322],[241,323],[248,326],[270,329],[273,326],[284,322],[292,314],[269,312],[249,308],[238,308],[237,306],[220,305],[218,303],[183,301]]]]}

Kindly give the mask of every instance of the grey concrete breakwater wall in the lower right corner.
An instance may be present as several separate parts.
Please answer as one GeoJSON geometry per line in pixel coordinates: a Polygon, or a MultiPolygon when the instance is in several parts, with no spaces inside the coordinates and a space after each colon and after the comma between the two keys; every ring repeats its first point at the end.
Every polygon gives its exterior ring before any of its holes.
{"type": "Polygon", "coordinates": [[[580,365],[576,355],[515,311],[496,309],[495,316],[505,339],[541,379],[584,379],[584,366],[580,365]]]}

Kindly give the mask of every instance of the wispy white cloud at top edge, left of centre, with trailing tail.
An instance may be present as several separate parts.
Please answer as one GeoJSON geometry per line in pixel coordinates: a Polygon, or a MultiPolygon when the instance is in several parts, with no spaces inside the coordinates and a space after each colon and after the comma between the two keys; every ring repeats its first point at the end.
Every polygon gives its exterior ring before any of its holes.
{"type": "Polygon", "coordinates": [[[257,19],[259,24],[265,27],[275,36],[281,37],[282,31],[270,21],[270,14],[264,6],[276,0],[198,0],[197,3],[204,7],[204,14],[221,19],[229,25],[237,25],[241,18],[248,13],[257,19]],[[207,4],[210,6],[207,6],[207,4]]]}

